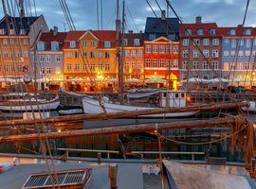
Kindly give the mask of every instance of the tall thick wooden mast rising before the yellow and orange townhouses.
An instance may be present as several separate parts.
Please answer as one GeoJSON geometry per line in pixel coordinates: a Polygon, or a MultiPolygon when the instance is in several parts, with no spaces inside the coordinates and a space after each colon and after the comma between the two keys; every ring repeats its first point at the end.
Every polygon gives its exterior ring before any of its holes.
{"type": "Polygon", "coordinates": [[[124,32],[124,0],[122,5],[122,22],[119,20],[119,0],[117,0],[117,57],[118,57],[118,77],[119,77],[119,101],[123,102],[123,32],[124,32]]]}

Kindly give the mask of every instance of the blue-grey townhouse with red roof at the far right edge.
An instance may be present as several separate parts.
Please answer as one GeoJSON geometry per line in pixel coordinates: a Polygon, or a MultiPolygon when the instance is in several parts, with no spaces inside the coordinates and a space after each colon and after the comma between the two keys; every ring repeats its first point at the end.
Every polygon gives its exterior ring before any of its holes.
{"type": "Polygon", "coordinates": [[[222,77],[232,85],[249,87],[256,74],[256,28],[250,26],[220,27],[223,34],[222,77]]]}

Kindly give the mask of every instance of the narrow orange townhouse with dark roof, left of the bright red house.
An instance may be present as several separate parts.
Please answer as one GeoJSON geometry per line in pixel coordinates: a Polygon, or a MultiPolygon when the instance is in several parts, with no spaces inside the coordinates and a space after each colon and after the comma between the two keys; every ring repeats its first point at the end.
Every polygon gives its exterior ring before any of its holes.
{"type": "Polygon", "coordinates": [[[123,75],[124,79],[144,79],[144,34],[129,31],[123,34],[123,75]]]}

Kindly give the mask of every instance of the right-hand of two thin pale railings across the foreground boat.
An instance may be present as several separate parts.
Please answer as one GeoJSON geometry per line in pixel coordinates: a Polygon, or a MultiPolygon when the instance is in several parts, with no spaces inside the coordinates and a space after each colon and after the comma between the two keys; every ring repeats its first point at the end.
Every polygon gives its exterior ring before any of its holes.
{"type": "MultiPolygon", "coordinates": [[[[159,154],[159,151],[131,151],[131,153],[140,155],[143,160],[144,154],[159,154]]],[[[194,155],[205,155],[206,153],[201,151],[161,151],[161,154],[192,155],[192,162],[194,162],[194,155]]]]}

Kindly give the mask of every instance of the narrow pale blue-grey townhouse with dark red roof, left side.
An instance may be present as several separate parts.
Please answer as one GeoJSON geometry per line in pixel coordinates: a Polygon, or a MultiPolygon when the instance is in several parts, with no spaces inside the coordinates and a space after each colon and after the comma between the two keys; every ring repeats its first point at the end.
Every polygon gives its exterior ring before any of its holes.
{"type": "Polygon", "coordinates": [[[42,33],[36,53],[39,77],[56,81],[64,78],[63,47],[66,34],[58,32],[56,26],[50,32],[42,33]]]}

